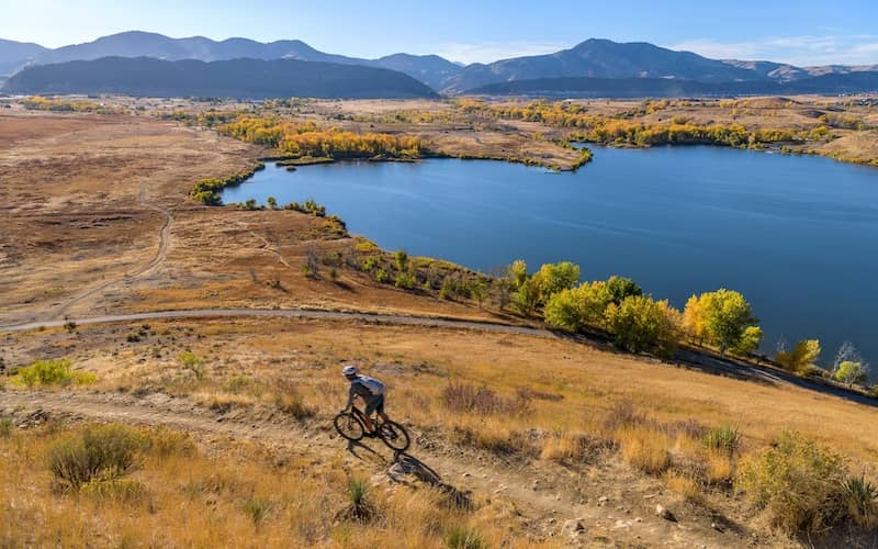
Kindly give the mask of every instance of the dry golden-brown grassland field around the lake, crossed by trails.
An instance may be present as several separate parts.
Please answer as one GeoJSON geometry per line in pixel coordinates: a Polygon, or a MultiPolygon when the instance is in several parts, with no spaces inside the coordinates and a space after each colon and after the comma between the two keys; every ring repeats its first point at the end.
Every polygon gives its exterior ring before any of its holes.
{"type": "MultiPolygon", "coordinates": [[[[743,362],[661,361],[531,330],[541,326],[491,298],[442,295],[442,277],[477,273],[383,254],[329,216],[202,205],[189,195],[198,180],[272,152],[160,119],[203,104],[116,101],[138,114],[0,110],[0,325],[209,309],[379,314],[205,311],[0,329],[0,459],[11,463],[0,471],[0,546],[796,547],[807,529],[819,546],[875,545],[874,527],[848,520],[826,531],[813,523],[820,513],[807,515],[814,528],[790,529],[735,480],[792,429],[875,482],[878,407],[867,400],[743,362]],[[379,280],[394,261],[428,273],[427,288],[379,280]],[[23,382],[38,360],[69,360],[71,370],[59,382],[23,382]],[[389,413],[412,432],[417,461],[394,466],[380,441],[348,446],[335,435],[346,396],[338,370],[351,361],[389,383],[389,413]],[[98,423],[136,426],[136,463],[59,489],[45,466],[53,448],[98,423]],[[739,435],[728,453],[706,441],[721,429],[739,435]],[[351,511],[350,486],[363,484],[371,511],[351,511]],[[481,545],[455,541],[468,536],[481,545]]],[[[562,128],[461,121],[447,102],[283,109],[348,130],[418,133],[449,154],[542,150],[556,167],[573,161],[552,141],[562,128]],[[436,120],[412,122],[416,113],[436,120]]],[[[672,109],[705,122],[729,110],[672,109]]],[[[784,124],[804,128],[810,119],[790,109],[784,124]]],[[[848,139],[874,155],[863,132],[826,146],[848,139]]]]}

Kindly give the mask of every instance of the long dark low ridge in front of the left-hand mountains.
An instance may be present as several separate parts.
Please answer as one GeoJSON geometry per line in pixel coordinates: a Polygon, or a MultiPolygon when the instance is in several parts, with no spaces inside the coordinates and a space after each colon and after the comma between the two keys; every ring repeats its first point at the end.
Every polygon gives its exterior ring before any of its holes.
{"type": "Polygon", "coordinates": [[[168,61],[150,57],[37,65],[12,75],[3,91],[241,99],[439,97],[402,72],[359,65],[297,59],[168,61]]]}

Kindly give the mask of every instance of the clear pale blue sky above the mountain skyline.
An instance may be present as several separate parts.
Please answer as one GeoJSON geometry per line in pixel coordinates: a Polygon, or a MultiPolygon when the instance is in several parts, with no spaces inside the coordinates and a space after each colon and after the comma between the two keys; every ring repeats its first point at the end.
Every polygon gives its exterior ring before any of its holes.
{"type": "Polygon", "coordinates": [[[2,3],[0,37],[49,47],[144,30],[175,37],[300,38],[325,52],[353,56],[437,53],[471,63],[550,53],[588,37],[605,37],[720,58],[878,64],[878,0],[2,3]]]}

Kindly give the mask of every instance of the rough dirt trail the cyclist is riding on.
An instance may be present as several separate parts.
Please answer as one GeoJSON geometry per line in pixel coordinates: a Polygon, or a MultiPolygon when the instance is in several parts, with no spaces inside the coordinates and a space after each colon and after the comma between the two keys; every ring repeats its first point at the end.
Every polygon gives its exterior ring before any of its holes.
{"type": "MultiPolygon", "coordinates": [[[[331,430],[328,418],[307,424],[270,423],[251,417],[222,416],[192,401],[153,394],[136,399],[115,393],[81,392],[0,392],[0,413],[19,416],[37,411],[101,422],[166,425],[169,427],[224,435],[268,444],[281,451],[306,452],[326,458],[345,451],[346,442],[331,430]]],[[[418,439],[417,428],[409,427],[418,439]]],[[[744,542],[738,534],[711,528],[702,518],[668,522],[650,512],[654,500],[624,502],[582,501],[565,493],[566,479],[534,467],[502,467],[492,459],[480,459],[461,452],[443,451],[441,445],[413,442],[409,450],[417,460],[435,470],[443,482],[458,490],[472,491],[476,501],[496,498],[511,504],[517,514],[547,536],[562,536],[567,519],[579,519],[585,530],[575,538],[559,538],[572,546],[594,545],[596,540],[624,546],[718,547],[744,542]],[[540,483],[534,488],[534,480],[540,483]]],[[[374,468],[375,482],[392,482],[385,473],[393,463],[392,452],[379,441],[349,448],[352,459],[361,459],[374,468]]],[[[508,464],[507,464],[508,466],[508,464]]],[[[608,484],[614,479],[606,480],[608,484]]],[[[610,490],[610,489],[608,489],[610,490]]]]}

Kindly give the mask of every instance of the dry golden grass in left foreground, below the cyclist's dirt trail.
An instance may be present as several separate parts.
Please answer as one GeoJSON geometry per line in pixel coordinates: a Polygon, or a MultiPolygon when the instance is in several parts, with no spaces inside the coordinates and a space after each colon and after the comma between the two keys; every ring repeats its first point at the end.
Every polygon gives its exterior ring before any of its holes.
{"type": "Polygon", "coordinates": [[[320,462],[236,442],[195,449],[168,429],[143,432],[151,446],[130,475],[54,492],[44,456],[79,429],[15,429],[0,438],[0,546],[442,547],[459,525],[491,547],[525,545],[495,507],[457,509],[428,486],[370,485],[375,516],[339,519],[348,479],[365,474],[340,456],[320,462]]]}

